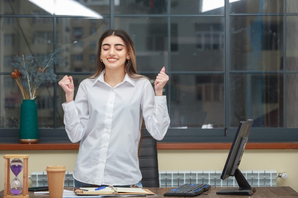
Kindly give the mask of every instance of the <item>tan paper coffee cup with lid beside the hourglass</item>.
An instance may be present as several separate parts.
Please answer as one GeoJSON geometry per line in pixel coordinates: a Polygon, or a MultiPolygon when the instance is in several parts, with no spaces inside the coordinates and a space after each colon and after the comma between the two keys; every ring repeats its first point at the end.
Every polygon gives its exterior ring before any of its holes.
{"type": "Polygon", "coordinates": [[[46,166],[50,198],[62,198],[65,166],[46,166]]]}

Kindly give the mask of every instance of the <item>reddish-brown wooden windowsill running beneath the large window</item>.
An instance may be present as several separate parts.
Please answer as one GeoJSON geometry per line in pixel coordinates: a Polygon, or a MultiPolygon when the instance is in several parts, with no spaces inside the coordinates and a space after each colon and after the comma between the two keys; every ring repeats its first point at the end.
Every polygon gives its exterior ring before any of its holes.
{"type": "MultiPolygon", "coordinates": [[[[157,149],[194,149],[194,150],[217,150],[230,149],[232,143],[157,143],[157,149]]],[[[79,143],[0,143],[0,150],[77,150],[79,143]]],[[[277,142],[277,143],[247,143],[246,149],[298,149],[298,142],[277,142]]]]}

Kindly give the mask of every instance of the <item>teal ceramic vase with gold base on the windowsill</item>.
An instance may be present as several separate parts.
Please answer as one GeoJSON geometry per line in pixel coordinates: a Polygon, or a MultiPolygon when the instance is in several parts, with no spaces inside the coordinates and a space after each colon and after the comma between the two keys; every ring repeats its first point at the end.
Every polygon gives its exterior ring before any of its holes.
{"type": "Polygon", "coordinates": [[[37,105],[35,100],[23,100],[20,116],[20,142],[38,142],[37,105]]]}

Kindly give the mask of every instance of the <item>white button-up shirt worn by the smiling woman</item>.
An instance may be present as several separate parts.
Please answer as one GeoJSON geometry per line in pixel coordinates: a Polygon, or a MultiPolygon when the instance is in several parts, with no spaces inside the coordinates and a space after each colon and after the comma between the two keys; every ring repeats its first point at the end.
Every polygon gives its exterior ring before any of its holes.
{"type": "Polygon", "coordinates": [[[142,116],[153,138],[163,139],[170,125],[166,96],[155,96],[148,79],[127,74],[111,87],[104,72],[83,80],[75,101],[62,104],[70,141],[81,141],[73,176],[97,185],[136,184],[142,116]]]}

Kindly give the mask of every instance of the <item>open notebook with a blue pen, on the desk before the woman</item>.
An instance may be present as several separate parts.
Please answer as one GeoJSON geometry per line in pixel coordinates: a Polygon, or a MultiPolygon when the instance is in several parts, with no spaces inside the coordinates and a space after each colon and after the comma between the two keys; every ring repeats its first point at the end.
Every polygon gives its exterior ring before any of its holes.
{"type": "Polygon", "coordinates": [[[75,193],[80,195],[108,195],[108,194],[117,194],[117,195],[128,195],[128,194],[139,194],[139,195],[152,195],[153,192],[148,189],[143,188],[124,188],[124,187],[114,187],[107,186],[104,189],[98,191],[96,188],[80,188],[76,189],[75,193]]]}

